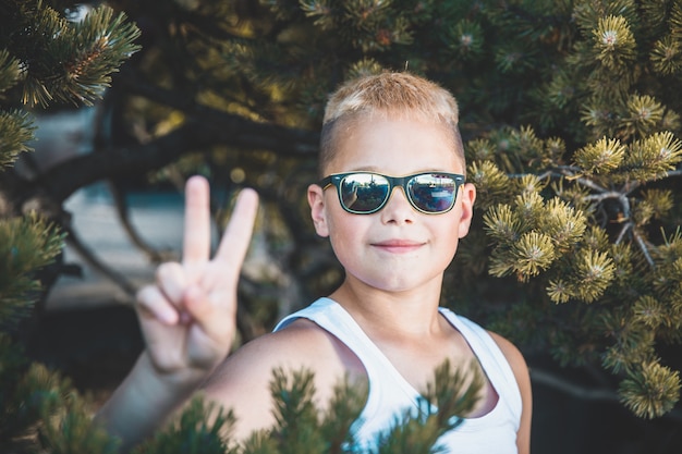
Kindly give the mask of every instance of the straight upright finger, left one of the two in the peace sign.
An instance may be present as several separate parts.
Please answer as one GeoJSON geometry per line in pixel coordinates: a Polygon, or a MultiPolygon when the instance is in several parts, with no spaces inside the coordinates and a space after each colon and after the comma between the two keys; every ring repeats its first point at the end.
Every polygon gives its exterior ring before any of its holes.
{"type": "Polygon", "coordinates": [[[185,184],[183,265],[207,262],[210,258],[210,207],[208,181],[192,176],[185,184]]]}

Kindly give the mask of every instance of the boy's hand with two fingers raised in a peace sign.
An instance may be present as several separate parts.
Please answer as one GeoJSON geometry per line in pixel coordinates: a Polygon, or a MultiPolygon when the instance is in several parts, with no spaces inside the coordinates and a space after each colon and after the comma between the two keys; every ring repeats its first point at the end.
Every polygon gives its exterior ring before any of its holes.
{"type": "Polygon", "coordinates": [[[208,182],[199,176],[187,181],[182,263],[161,265],[156,284],[137,294],[146,354],[160,376],[196,382],[228,355],[257,207],[256,193],[242,191],[211,260],[208,182]]]}

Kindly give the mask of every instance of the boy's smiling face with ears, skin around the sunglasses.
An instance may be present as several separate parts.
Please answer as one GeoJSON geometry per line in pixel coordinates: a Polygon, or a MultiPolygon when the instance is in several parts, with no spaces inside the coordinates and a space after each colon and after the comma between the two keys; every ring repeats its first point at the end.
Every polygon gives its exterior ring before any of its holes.
{"type": "MultiPolygon", "coordinates": [[[[338,152],[326,174],[370,171],[390,176],[418,172],[464,173],[443,126],[407,119],[364,118],[338,134],[338,152]]],[[[476,193],[460,186],[454,208],[441,214],[415,210],[402,188],[372,214],[343,210],[333,186],[308,188],[317,233],[329,236],[346,279],[385,291],[405,291],[440,282],[459,238],[466,235],[476,193]]]]}

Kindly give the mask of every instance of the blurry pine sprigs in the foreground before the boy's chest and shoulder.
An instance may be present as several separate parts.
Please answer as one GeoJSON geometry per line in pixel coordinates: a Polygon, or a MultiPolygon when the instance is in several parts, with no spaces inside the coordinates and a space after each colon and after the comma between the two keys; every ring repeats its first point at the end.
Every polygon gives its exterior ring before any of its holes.
{"type": "Polygon", "coordinates": [[[419,412],[397,415],[391,428],[377,434],[376,445],[360,445],[353,422],[365,405],[366,385],[342,381],[322,409],[310,371],[276,369],[270,383],[276,417],[272,428],[255,431],[239,444],[231,442],[232,413],[226,414],[199,396],[133,453],[438,453],[441,450],[437,439],[459,426],[471,412],[482,380],[477,368],[453,370],[448,361],[443,363],[424,391],[419,412]]]}

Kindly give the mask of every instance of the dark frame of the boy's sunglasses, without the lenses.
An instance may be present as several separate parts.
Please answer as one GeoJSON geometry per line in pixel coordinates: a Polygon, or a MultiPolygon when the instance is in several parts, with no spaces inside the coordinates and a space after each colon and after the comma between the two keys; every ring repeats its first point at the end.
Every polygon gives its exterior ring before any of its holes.
{"type": "Polygon", "coordinates": [[[405,176],[389,176],[389,175],[385,175],[382,173],[377,173],[377,172],[345,172],[345,173],[332,173],[331,175],[325,176],[322,180],[319,181],[318,185],[322,188],[322,191],[327,189],[329,186],[334,186],[337,188],[337,195],[339,196],[339,203],[341,204],[341,208],[343,208],[346,212],[350,212],[352,214],[373,214],[377,211],[380,211],[386,206],[386,204],[388,204],[388,201],[391,199],[391,196],[393,195],[393,189],[395,187],[401,187],[403,189],[403,194],[405,194],[407,201],[410,201],[410,205],[412,206],[412,208],[414,208],[418,212],[424,213],[424,214],[443,214],[452,210],[452,208],[454,207],[454,201],[456,200],[456,197],[459,195],[460,187],[464,184],[464,182],[465,182],[464,175],[461,175],[459,173],[449,173],[449,172],[419,172],[419,173],[414,173],[412,175],[405,175],[405,176]],[[341,182],[346,176],[356,175],[356,174],[377,175],[388,181],[388,184],[389,184],[388,196],[377,208],[370,211],[355,211],[346,207],[345,204],[343,203],[343,198],[341,196],[341,182]],[[412,179],[422,176],[422,175],[443,175],[443,176],[451,177],[454,181],[454,198],[452,200],[452,205],[450,205],[450,208],[448,208],[447,210],[442,210],[442,211],[426,211],[416,206],[415,201],[412,199],[412,196],[410,195],[410,191],[407,191],[407,183],[412,179]]]}

